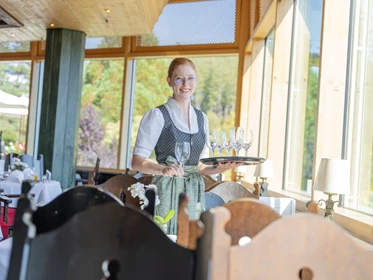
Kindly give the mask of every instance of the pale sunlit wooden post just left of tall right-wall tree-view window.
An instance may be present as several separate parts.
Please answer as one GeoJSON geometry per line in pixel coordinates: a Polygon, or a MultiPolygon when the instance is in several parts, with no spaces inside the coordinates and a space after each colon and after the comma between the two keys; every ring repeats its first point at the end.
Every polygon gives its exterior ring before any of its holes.
{"type": "Polygon", "coordinates": [[[268,158],[273,160],[274,177],[268,179],[271,188],[282,188],[286,112],[289,89],[293,0],[277,3],[270,109],[268,158]]]}

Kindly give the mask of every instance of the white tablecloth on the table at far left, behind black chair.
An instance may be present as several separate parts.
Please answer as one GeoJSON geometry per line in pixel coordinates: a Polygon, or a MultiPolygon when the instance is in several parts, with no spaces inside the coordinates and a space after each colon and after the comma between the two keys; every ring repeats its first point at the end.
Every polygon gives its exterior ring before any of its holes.
{"type": "MultiPolygon", "coordinates": [[[[3,194],[21,194],[21,183],[13,183],[2,181],[0,182],[0,189],[4,189],[3,194]]],[[[30,191],[35,194],[35,202],[37,204],[47,204],[62,193],[61,185],[57,181],[38,182],[35,183],[30,191]]],[[[12,198],[10,207],[17,207],[18,199],[12,198]]]]}

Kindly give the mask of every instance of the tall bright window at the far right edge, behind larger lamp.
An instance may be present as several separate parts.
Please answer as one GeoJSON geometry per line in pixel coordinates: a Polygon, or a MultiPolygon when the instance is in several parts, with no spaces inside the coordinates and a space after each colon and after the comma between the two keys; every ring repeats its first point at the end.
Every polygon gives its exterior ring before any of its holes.
{"type": "Polygon", "coordinates": [[[373,3],[355,1],[347,149],[351,160],[351,195],[345,207],[373,214],[373,3]]]}

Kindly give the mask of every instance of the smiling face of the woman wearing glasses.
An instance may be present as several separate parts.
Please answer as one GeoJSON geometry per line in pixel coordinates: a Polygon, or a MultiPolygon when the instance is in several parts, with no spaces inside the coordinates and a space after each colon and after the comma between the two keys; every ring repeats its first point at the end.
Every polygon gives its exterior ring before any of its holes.
{"type": "Polygon", "coordinates": [[[189,100],[196,89],[196,71],[189,65],[180,65],[171,78],[167,77],[167,83],[172,88],[176,101],[189,100]]]}

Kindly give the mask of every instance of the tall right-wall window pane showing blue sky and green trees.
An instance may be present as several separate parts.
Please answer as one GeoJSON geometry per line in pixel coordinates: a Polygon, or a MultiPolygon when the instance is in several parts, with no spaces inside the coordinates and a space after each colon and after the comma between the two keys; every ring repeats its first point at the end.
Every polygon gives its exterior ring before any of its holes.
{"type": "Polygon", "coordinates": [[[288,101],[285,178],[287,190],[312,190],[318,96],[322,0],[297,0],[288,101]]]}

